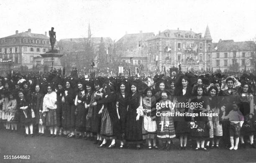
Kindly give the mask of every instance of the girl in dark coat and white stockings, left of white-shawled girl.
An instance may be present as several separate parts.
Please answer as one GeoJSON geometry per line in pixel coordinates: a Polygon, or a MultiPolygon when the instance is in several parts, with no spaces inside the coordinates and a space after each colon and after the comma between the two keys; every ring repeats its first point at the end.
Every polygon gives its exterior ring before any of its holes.
{"type": "Polygon", "coordinates": [[[19,100],[18,100],[18,110],[20,115],[20,124],[25,126],[26,136],[28,136],[28,126],[30,128],[30,136],[33,137],[33,123],[32,123],[32,114],[31,108],[29,107],[29,103],[26,101],[24,97],[24,93],[22,91],[19,92],[19,100]]]}

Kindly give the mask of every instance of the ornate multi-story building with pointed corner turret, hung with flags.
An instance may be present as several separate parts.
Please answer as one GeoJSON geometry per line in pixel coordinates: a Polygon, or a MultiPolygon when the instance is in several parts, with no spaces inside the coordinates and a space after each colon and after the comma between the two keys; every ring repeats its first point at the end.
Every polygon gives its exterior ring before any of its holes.
{"type": "Polygon", "coordinates": [[[190,31],[165,30],[147,40],[148,69],[154,71],[166,66],[178,67],[182,71],[210,69],[212,38],[207,26],[205,35],[190,31]]]}

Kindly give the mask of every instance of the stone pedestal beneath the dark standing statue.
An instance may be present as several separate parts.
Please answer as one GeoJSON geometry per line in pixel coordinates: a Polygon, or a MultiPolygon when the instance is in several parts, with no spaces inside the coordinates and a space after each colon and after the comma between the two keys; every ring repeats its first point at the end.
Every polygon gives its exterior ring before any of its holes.
{"type": "Polygon", "coordinates": [[[44,58],[44,64],[42,66],[42,70],[44,70],[44,66],[47,65],[49,66],[49,69],[51,70],[51,67],[53,66],[53,69],[63,69],[63,66],[61,66],[61,61],[60,58],[63,56],[61,53],[51,53],[51,52],[46,52],[44,54],[40,54],[44,58]],[[52,65],[53,64],[53,65],[52,65]]]}

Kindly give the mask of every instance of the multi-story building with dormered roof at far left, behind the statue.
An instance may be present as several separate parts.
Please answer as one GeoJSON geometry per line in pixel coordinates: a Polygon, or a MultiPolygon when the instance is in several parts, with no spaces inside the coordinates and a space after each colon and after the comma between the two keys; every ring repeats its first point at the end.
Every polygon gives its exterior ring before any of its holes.
{"type": "Polygon", "coordinates": [[[43,64],[40,54],[46,53],[50,49],[49,37],[47,33],[31,33],[31,29],[26,32],[16,33],[11,36],[0,38],[0,67],[1,71],[6,71],[8,66],[4,66],[5,61],[10,61],[12,69],[18,69],[21,65],[32,69],[33,65],[43,64]],[[2,64],[1,64],[2,63],[2,64]]]}

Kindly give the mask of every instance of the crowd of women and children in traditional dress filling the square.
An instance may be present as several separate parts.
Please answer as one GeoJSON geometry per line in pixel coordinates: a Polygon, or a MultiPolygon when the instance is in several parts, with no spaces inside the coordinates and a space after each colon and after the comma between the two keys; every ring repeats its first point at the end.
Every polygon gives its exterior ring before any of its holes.
{"type": "Polygon", "coordinates": [[[179,150],[187,149],[188,140],[196,142],[195,150],[255,148],[255,81],[253,74],[85,78],[12,73],[0,77],[0,120],[5,130],[24,127],[26,137],[95,140],[98,148],[140,149],[146,142],[149,150],[168,151],[174,138],[179,150]],[[169,102],[186,105],[161,105],[169,102]],[[174,116],[165,116],[169,113],[174,116]],[[182,113],[198,116],[178,116],[182,113]]]}

